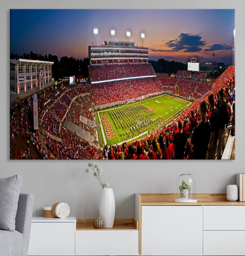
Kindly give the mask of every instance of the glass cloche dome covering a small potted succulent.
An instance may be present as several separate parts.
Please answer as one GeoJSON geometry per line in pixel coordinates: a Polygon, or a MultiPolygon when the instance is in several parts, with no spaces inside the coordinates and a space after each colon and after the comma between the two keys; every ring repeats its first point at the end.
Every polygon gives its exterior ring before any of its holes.
{"type": "Polygon", "coordinates": [[[196,182],[190,173],[182,173],[177,179],[177,193],[175,202],[196,203],[196,182]]]}

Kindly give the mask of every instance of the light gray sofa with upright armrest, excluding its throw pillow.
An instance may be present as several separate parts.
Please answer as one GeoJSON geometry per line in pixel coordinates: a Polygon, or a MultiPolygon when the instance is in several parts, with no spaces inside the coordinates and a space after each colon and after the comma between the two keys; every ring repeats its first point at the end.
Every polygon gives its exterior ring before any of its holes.
{"type": "Polygon", "coordinates": [[[34,195],[19,194],[15,230],[0,230],[0,256],[27,256],[34,195]]]}

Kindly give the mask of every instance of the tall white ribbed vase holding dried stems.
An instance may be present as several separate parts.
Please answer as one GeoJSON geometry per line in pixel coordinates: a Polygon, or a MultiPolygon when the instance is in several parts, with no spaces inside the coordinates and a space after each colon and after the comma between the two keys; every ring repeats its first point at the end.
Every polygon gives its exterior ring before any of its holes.
{"type": "Polygon", "coordinates": [[[112,188],[102,188],[99,201],[99,216],[104,228],[112,228],[115,219],[115,198],[112,188]]]}

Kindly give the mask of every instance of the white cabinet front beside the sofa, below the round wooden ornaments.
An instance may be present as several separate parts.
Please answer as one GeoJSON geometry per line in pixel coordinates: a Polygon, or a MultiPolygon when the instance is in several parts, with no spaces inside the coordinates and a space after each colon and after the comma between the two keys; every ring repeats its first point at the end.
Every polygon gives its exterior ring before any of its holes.
{"type": "Polygon", "coordinates": [[[75,222],[32,222],[28,255],[75,255],[75,222]]]}

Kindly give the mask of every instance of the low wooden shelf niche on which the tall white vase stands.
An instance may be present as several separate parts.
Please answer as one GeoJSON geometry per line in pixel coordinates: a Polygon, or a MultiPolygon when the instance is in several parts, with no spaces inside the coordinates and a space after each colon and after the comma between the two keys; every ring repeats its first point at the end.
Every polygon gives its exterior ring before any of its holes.
{"type": "Polygon", "coordinates": [[[115,219],[112,228],[94,228],[94,219],[77,219],[77,230],[138,230],[136,219],[115,219]]]}

